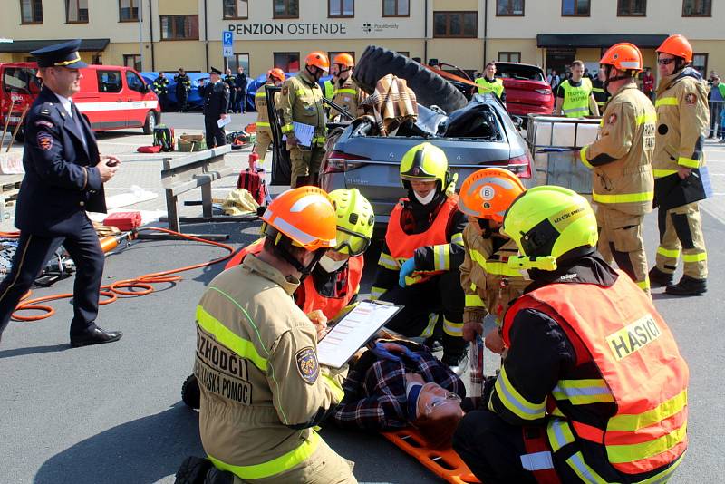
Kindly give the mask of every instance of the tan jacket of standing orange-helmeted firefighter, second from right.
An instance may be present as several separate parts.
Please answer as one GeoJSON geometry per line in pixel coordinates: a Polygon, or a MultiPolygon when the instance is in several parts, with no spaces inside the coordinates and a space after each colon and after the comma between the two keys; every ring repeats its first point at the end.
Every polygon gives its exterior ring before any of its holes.
{"type": "Polygon", "coordinates": [[[654,128],[652,102],[636,84],[623,86],[606,105],[599,138],[581,150],[594,169],[595,202],[631,215],[652,211],[654,128]]]}

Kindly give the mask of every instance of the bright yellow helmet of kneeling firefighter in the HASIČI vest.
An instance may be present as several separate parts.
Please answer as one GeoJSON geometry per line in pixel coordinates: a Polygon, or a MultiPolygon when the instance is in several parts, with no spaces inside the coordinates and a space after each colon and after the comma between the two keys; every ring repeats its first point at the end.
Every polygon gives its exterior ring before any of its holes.
{"type": "Polygon", "coordinates": [[[523,257],[508,265],[556,270],[556,260],[577,247],[595,247],[599,238],[594,210],[570,189],[545,185],[528,189],[508,208],[501,231],[523,257]]]}

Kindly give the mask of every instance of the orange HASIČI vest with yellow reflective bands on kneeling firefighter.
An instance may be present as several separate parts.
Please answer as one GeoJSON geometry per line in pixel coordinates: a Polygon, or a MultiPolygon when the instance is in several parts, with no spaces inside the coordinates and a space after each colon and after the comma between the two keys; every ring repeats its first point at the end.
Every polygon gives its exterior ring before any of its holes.
{"type": "MultiPolygon", "coordinates": [[[[689,371],[649,297],[623,273],[610,287],[544,286],[523,295],[507,312],[503,326],[507,344],[517,312],[523,309],[554,319],[575,347],[575,367],[541,403],[553,416],[548,423],[552,450],[571,454],[577,441],[586,440],[566,462],[580,476],[586,470],[589,482],[606,482],[596,472],[606,465],[603,455],[624,481],[639,481],[636,475],[658,469],[662,469],[660,478],[672,472],[687,449],[689,371]],[[591,378],[593,364],[599,378],[591,378]],[[572,374],[588,377],[576,379],[572,374]],[[604,421],[602,404],[612,408],[604,421]],[[604,450],[589,449],[592,443],[604,450]]],[[[543,415],[543,406],[531,409],[530,402],[520,401],[505,373],[499,379],[495,391],[501,402],[519,412],[532,411],[537,418],[543,415]]]]}

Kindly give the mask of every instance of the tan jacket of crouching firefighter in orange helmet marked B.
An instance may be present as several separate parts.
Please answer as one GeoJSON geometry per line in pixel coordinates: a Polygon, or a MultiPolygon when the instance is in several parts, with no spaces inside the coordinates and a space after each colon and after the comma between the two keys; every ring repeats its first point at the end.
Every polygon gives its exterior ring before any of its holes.
{"type": "Polygon", "coordinates": [[[508,257],[518,254],[510,238],[483,237],[472,224],[463,230],[465,256],[460,266],[460,285],[466,294],[463,322],[483,321],[493,315],[497,324],[503,321],[511,301],[524,293],[531,283],[517,269],[508,267],[508,257]]]}

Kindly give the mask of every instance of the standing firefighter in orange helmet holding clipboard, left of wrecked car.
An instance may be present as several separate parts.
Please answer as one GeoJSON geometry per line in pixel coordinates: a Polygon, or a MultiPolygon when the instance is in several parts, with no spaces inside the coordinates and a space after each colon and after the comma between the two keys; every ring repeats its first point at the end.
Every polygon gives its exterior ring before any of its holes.
{"type": "Polygon", "coordinates": [[[326,130],[323,92],[317,82],[329,70],[330,61],[324,53],[310,53],[304,60],[304,69],[282,85],[279,109],[282,111],[282,133],[287,137],[292,162],[290,186],[293,188],[317,183],[326,130]],[[296,138],[294,122],[314,127],[309,146],[296,138]]]}

